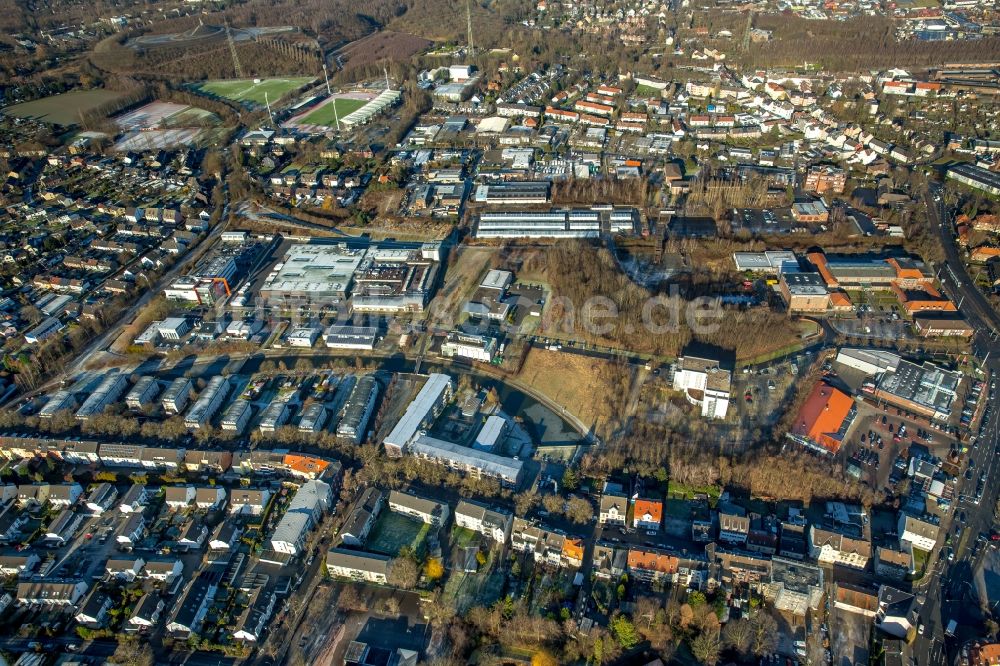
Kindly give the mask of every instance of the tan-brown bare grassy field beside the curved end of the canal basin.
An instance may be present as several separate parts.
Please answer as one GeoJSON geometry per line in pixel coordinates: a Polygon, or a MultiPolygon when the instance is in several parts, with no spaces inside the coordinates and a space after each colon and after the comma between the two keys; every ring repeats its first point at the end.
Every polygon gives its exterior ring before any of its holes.
{"type": "Polygon", "coordinates": [[[532,349],[518,379],[604,435],[624,413],[632,373],[604,359],[532,349]]]}

